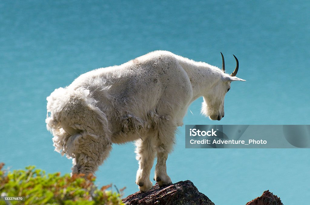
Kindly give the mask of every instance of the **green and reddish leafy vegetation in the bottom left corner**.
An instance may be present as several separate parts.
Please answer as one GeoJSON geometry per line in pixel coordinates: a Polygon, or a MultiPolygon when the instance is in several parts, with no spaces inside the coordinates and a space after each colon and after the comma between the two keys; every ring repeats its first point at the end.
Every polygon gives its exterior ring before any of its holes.
{"type": "MultiPolygon", "coordinates": [[[[0,205],[2,204],[107,204],[121,205],[121,195],[108,191],[111,186],[98,189],[93,175],[60,173],[46,174],[35,166],[28,166],[26,170],[2,170],[0,163],[0,205]],[[25,201],[10,200],[5,202],[3,196],[25,197],[25,201]]],[[[120,190],[122,192],[122,190],[120,190]]]]}

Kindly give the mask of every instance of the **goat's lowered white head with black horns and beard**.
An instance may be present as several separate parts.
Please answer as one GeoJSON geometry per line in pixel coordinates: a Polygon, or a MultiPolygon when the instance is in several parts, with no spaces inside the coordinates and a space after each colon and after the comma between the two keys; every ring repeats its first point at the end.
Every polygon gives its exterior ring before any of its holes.
{"type": "Polygon", "coordinates": [[[222,75],[217,82],[208,89],[206,95],[203,96],[203,103],[201,112],[206,116],[209,116],[212,120],[221,120],[224,117],[224,98],[226,93],[230,90],[230,83],[232,81],[245,81],[241,78],[236,77],[239,68],[239,62],[235,55],[237,66],[236,69],[229,75],[225,73],[225,61],[222,55],[222,75]]]}

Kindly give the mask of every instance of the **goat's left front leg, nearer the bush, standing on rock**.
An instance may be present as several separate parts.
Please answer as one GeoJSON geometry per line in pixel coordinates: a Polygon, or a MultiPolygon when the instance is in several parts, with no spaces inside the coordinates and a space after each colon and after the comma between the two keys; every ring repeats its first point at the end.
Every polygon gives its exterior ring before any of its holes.
{"type": "Polygon", "coordinates": [[[153,186],[153,183],[150,181],[150,172],[155,158],[155,149],[152,140],[152,137],[146,137],[135,142],[136,159],[139,161],[136,184],[142,192],[150,190],[153,186]]]}

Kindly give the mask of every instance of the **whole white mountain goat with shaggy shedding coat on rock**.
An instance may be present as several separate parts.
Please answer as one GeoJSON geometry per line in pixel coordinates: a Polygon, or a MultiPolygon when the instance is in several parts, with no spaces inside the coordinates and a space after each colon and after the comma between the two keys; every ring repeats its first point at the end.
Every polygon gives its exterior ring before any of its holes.
{"type": "Polygon", "coordinates": [[[112,143],[135,140],[139,169],[136,184],[152,188],[154,180],[171,184],[166,160],[188,106],[203,96],[201,112],[224,117],[224,97],[232,81],[245,81],[203,62],[167,51],[154,51],[119,66],[100,68],[76,78],[47,97],[47,129],[55,150],[73,158],[72,173],[94,173],[112,143]]]}

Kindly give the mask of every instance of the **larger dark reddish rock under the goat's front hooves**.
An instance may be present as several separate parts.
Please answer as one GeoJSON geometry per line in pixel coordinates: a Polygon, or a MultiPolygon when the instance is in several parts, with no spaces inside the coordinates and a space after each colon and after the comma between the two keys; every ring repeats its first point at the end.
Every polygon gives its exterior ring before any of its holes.
{"type": "Polygon", "coordinates": [[[138,191],[122,199],[122,201],[127,205],[214,205],[189,180],[177,182],[163,188],[156,184],[151,190],[145,193],[138,191]]]}

